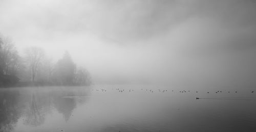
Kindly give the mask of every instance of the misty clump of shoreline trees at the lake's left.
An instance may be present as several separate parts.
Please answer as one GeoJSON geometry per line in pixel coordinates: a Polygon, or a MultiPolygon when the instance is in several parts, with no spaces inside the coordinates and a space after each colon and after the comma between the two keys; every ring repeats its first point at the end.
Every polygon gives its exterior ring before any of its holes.
{"type": "Polygon", "coordinates": [[[26,48],[21,57],[11,39],[0,35],[0,87],[90,84],[90,73],[77,67],[68,51],[56,63],[40,47],[26,48]]]}

